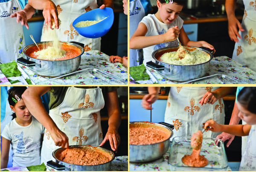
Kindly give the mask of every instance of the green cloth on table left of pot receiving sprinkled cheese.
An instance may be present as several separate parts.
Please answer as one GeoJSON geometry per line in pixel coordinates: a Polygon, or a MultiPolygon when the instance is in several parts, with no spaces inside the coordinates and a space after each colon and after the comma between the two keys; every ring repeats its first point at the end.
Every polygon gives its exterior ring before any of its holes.
{"type": "Polygon", "coordinates": [[[21,72],[18,69],[17,63],[15,61],[0,64],[0,70],[3,72],[6,78],[21,76],[21,72]]]}

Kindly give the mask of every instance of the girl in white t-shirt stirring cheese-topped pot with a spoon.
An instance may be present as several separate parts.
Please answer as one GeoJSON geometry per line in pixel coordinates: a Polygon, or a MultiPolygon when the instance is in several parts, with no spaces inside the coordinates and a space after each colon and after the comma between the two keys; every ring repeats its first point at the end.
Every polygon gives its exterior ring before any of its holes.
{"type": "Polygon", "coordinates": [[[148,14],[139,23],[139,26],[130,39],[131,49],[143,48],[143,64],[154,61],[153,51],[169,46],[177,46],[177,37],[182,45],[206,47],[215,49],[205,41],[190,41],[183,26],[183,20],[179,14],[186,0],[157,0],[158,11],[156,14],[148,14]],[[168,3],[167,3],[168,2],[168,3]]]}

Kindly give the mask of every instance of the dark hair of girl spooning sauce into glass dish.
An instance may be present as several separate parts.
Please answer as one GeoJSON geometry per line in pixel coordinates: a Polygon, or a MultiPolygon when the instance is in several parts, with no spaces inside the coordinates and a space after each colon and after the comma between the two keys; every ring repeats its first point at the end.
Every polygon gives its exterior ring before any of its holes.
{"type": "Polygon", "coordinates": [[[256,114],[256,87],[244,87],[239,92],[237,101],[248,111],[256,114]]]}

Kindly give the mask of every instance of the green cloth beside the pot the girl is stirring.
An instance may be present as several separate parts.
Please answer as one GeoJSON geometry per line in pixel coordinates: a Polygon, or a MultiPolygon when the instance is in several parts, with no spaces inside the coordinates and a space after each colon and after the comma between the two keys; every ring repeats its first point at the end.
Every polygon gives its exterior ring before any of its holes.
{"type": "Polygon", "coordinates": [[[130,75],[133,77],[135,81],[145,81],[150,80],[150,76],[146,72],[146,68],[144,64],[140,66],[132,66],[130,67],[130,75]]]}

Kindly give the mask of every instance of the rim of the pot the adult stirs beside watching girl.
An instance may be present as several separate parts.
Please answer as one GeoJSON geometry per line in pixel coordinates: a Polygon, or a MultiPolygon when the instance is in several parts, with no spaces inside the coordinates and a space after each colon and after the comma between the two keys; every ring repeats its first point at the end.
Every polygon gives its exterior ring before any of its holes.
{"type": "MultiPolygon", "coordinates": [[[[105,149],[105,148],[102,148],[102,147],[97,147],[97,146],[92,146],[92,145],[86,145],[86,144],[84,144],[84,145],[71,145],[71,146],[69,146],[69,147],[91,147],[91,148],[96,148],[96,149],[103,149],[103,150],[109,152],[111,155],[113,155],[113,157],[112,157],[112,159],[111,159],[110,161],[108,161],[108,162],[106,162],[106,163],[103,163],[103,164],[108,164],[108,163],[110,163],[111,161],[113,161],[113,160],[115,159],[115,154],[114,154],[112,151],[110,151],[110,150],[108,150],[108,149],[105,149]]],[[[61,149],[66,149],[66,148],[61,147],[61,148],[58,148],[58,149],[54,150],[54,151],[52,152],[52,156],[53,156],[57,161],[59,161],[59,162],[62,162],[62,163],[65,163],[65,164],[70,164],[70,163],[67,163],[67,162],[64,162],[64,161],[60,161],[60,160],[58,160],[58,158],[56,158],[55,153],[58,152],[58,151],[61,150],[61,149]]],[[[100,165],[103,165],[103,164],[97,164],[97,165],[78,165],[78,164],[70,164],[70,165],[75,165],[75,166],[100,166],[100,165]]]]}

